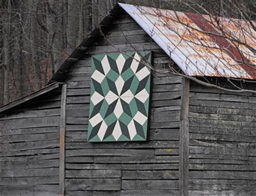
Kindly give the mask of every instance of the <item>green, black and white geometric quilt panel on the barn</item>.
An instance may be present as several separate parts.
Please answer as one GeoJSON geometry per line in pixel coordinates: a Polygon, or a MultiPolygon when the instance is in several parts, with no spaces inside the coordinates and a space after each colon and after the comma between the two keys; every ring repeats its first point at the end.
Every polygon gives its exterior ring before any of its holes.
{"type": "Polygon", "coordinates": [[[91,59],[88,142],[146,141],[151,52],[109,53],[91,59]]]}

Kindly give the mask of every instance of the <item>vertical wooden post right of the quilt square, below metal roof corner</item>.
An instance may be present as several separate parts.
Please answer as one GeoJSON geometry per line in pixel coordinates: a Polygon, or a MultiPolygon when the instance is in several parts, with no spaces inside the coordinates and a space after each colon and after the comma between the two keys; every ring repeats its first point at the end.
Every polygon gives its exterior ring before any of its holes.
{"type": "Polygon", "coordinates": [[[190,98],[190,81],[183,79],[181,94],[180,137],[179,137],[179,191],[180,195],[188,196],[188,107],[190,98]]]}

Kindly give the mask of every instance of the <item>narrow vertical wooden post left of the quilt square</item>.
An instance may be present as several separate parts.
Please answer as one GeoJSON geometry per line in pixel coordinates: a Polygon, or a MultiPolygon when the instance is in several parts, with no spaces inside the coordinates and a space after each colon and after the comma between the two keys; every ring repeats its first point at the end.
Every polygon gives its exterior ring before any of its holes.
{"type": "Polygon", "coordinates": [[[62,86],[59,129],[59,196],[65,192],[66,84],[62,86]]]}

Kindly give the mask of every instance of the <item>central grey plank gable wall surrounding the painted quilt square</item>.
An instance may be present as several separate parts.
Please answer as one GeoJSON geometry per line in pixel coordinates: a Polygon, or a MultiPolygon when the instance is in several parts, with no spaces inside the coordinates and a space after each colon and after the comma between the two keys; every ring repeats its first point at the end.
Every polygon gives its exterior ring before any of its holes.
{"type": "MultiPolygon", "coordinates": [[[[112,25],[107,37],[122,51],[134,51],[127,40],[138,50],[152,50],[156,68],[170,61],[127,15],[112,25]]],[[[65,194],[179,194],[181,78],[166,74],[153,78],[149,142],[87,143],[91,55],[106,52],[119,51],[99,40],[66,81],[65,194]]]]}

